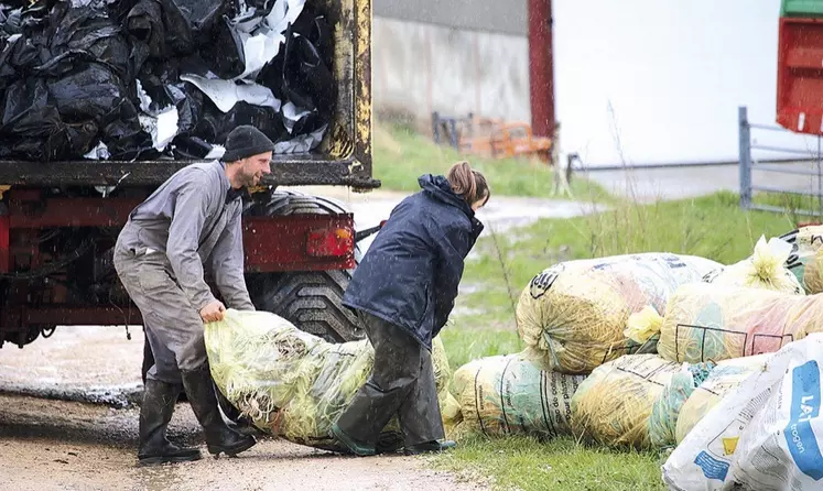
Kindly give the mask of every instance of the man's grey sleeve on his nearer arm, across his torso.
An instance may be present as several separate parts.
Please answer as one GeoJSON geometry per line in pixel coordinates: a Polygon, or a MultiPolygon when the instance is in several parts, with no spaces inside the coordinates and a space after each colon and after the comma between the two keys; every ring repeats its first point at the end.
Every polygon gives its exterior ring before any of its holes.
{"type": "Polygon", "coordinates": [[[192,178],[177,189],[166,243],[166,255],[177,284],[197,312],[216,299],[206,284],[203,262],[197,253],[208,210],[208,193],[203,192],[207,188],[206,181],[204,173],[193,173],[192,178]]]}

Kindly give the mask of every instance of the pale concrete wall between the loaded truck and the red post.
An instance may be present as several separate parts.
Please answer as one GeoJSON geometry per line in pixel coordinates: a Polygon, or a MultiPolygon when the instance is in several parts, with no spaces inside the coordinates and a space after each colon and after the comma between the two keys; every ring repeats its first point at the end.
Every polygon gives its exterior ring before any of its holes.
{"type": "Polygon", "coordinates": [[[448,29],[376,17],[375,108],[529,121],[529,54],[524,36],[448,29]]]}

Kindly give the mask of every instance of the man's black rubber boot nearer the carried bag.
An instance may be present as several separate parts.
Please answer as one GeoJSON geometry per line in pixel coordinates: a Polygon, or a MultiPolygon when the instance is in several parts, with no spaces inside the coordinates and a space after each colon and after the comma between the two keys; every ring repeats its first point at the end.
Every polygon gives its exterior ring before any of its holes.
{"type": "Polygon", "coordinates": [[[217,408],[217,394],[212,384],[208,364],[198,370],[182,371],[181,373],[188,403],[206,434],[206,447],[209,454],[218,457],[223,452],[234,457],[257,444],[253,436],[242,435],[229,428],[223,421],[217,408]]]}

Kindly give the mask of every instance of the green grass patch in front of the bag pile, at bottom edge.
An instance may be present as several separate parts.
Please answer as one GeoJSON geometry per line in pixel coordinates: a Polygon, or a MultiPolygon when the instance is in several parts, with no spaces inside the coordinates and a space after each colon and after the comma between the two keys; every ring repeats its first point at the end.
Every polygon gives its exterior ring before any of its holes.
{"type": "Polygon", "coordinates": [[[546,491],[664,490],[665,458],[578,445],[570,438],[472,437],[454,451],[431,459],[433,467],[473,479],[490,476],[497,489],[546,491]]]}

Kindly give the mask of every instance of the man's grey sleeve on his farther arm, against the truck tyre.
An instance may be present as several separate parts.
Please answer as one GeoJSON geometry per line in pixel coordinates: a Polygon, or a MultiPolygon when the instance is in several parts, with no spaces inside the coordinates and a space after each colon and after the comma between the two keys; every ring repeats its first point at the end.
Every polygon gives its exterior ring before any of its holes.
{"type": "Polygon", "coordinates": [[[220,291],[227,307],[237,310],[255,310],[249,298],[243,275],[243,248],[241,207],[237,206],[231,219],[217,239],[212,251],[210,266],[215,284],[220,291]]]}

